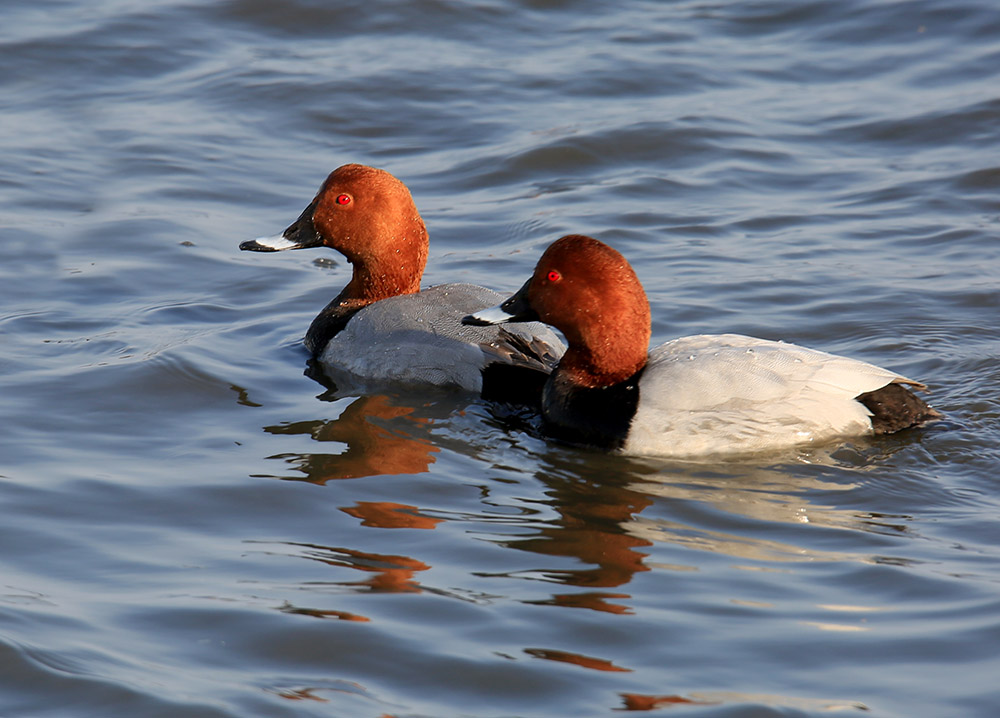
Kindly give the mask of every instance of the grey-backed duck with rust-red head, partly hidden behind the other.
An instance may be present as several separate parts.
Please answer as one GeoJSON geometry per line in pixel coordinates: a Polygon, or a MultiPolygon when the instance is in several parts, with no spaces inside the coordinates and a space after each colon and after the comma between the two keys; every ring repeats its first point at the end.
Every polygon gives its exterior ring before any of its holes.
{"type": "Polygon", "coordinates": [[[240,244],[252,252],[329,247],[350,282],[313,319],[304,344],[338,389],[451,387],[534,403],[565,345],[537,322],[466,326],[463,316],[503,299],[473,284],[421,289],[428,233],[410,190],[383,169],[346,164],[281,234],[240,244]]]}

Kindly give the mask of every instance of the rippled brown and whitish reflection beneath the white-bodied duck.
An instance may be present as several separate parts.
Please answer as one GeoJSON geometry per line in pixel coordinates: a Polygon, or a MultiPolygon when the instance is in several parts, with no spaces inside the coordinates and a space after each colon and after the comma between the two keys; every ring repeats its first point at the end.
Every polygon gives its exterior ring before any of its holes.
{"type": "MultiPolygon", "coordinates": [[[[552,451],[542,456],[543,469],[536,478],[546,486],[545,503],[556,517],[541,528],[533,524],[530,536],[502,543],[585,564],[546,570],[542,578],[589,590],[554,593],[532,603],[612,613],[630,612],[631,596],[593,589],[620,588],[654,567],[697,571],[700,564],[692,560],[692,549],[761,562],[760,568],[775,562],[876,560],[831,550],[829,533],[817,532],[822,528],[898,535],[909,530],[906,516],[840,507],[850,505],[847,496],[863,476],[859,470],[878,465],[885,456],[868,449],[837,451],[839,457],[826,455],[822,461],[816,452],[782,456],[785,461],[764,467],[667,464],[552,451]],[[798,530],[790,531],[789,525],[798,530]],[[681,550],[655,548],[666,544],[681,550]],[[666,556],[681,558],[664,561],[666,556]]],[[[494,575],[539,578],[537,571],[494,575]]]]}

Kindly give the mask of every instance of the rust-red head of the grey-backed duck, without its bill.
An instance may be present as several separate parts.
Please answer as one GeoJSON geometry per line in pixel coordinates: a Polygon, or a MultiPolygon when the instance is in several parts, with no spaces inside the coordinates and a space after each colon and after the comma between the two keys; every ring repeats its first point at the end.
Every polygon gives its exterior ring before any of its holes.
{"type": "Polygon", "coordinates": [[[323,244],[354,265],[358,292],[379,295],[365,298],[420,291],[427,229],[406,185],[385,170],[338,167],[300,221],[311,222],[323,244]]]}

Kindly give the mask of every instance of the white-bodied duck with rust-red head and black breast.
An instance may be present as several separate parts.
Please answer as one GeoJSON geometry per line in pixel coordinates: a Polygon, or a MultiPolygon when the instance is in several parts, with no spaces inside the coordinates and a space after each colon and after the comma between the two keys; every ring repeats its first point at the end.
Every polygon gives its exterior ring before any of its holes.
{"type": "Polygon", "coordinates": [[[542,391],[544,432],[629,456],[755,454],[902,431],[941,418],[919,382],[873,364],[740,334],[651,351],[649,301],[617,250],[568,235],[468,325],[540,320],[568,349],[542,391]]]}

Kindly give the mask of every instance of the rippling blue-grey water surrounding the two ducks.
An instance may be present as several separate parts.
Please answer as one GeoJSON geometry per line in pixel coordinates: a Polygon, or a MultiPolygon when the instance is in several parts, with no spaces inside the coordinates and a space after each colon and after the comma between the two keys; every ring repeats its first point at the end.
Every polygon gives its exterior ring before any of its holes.
{"type": "Polygon", "coordinates": [[[0,715],[1000,710],[993,0],[7,0],[0,715]],[[346,162],[427,284],[581,232],[654,342],[736,331],[948,421],[743,462],[338,397],[333,252],[240,253],[346,162]]]}

